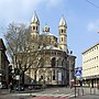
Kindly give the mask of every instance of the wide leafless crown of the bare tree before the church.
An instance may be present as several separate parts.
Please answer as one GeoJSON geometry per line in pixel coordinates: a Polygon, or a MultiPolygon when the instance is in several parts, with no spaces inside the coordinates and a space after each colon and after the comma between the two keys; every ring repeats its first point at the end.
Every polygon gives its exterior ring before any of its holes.
{"type": "Polygon", "coordinates": [[[43,51],[50,44],[50,38],[42,38],[43,36],[32,38],[30,28],[16,23],[9,24],[4,37],[11,63],[19,68],[20,76],[24,75],[32,66],[37,68],[43,63],[43,51]],[[36,47],[33,47],[33,44],[36,47]]]}

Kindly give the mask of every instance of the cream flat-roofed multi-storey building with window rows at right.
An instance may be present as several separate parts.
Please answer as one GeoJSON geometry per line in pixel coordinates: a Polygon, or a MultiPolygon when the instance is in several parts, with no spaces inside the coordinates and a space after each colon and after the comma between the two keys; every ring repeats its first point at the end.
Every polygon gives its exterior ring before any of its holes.
{"type": "Polygon", "coordinates": [[[82,53],[82,79],[88,86],[99,84],[99,43],[82,53]]]}

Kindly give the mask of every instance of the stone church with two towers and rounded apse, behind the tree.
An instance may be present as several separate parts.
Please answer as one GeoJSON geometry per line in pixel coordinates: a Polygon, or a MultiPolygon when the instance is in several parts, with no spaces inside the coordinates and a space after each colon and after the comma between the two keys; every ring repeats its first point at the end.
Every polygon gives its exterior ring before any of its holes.
{"type": "MultiPolygon", "coordinates": [[[[34,80],[43,81],[45,85],[70,85],[74,78],[75,58],[76,56],[68,53],[67,48],[67,24],[64,18],[61,19],[58,25],[58,38],[51,33],[50,28],[45,25],[40,33],[40,20],[34,13],[31,22],[31,37],[44,40],[47,46],[43,50],[43,63],[38,68],[31,67],[24,77],[24,84],[32,84],[34,80]],[[59,41],[59,42],[58,42],[59,41]]],[[[32,44],[32,47],[38,47],[32,44]]]]}

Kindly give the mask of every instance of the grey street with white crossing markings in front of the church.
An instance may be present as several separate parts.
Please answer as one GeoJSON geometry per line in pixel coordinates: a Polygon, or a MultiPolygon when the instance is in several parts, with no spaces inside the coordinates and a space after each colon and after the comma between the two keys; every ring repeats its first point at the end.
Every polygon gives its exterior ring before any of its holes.
{"type": "MultiPolygon", "coordinates": [[[[89,88],[84,89],[84,95],[88,95],[89,88]]],[[[76,96],[78,96],[78,89],[76,91],[76,96]]],[[[82,96],[81,89],[79,89],[79,96],[82,96]]],[[[46,88],[43,90],[32,90],[32,91],[24,91],[24,92],[13,92],[13,94],[1,94],[0,99],[72,99],[75,97],[75,89],[74,88],[46,88]]],[[[77,98],[81,99],[81,98],[77,98]]],[[[84,99],[84,98],[82,98],[84,99]]],[[[85,98],[87,99],[87,98],[85,98]]],[[[91,97],[88,99],[92,99],[91,97]]],[[[99,99],[96,98],[96,99],[99,99]]]]}

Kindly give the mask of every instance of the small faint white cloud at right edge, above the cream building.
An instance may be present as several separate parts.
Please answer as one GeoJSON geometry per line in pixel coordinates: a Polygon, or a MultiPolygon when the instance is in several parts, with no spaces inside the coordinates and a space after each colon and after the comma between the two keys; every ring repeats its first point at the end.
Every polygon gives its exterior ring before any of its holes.
{"type": "Polygon", "coordinates": [[[89,22],[88,31],[92,31],[92,32],[99,31],[99,20],[96,20],[94,22],[89,22]]]}

